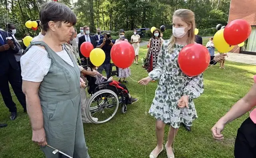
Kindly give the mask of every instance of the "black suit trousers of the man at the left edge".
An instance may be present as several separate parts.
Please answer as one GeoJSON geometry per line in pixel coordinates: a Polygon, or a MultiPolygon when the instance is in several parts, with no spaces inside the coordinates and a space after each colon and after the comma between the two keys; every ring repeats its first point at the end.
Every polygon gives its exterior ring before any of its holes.
{"type": "Polygon", "coordinates": [[[26,98],[22,92],[22,82],[20,77],[20,69],[13,69],[9,65],[8,71],[3,74],[0,74],[0,91],[4,100],[6,107],[9,108],[10,112],[16,112],[16,104],[12,101],[12,96],[10,93],[9,83],[12,86],[12,89],[18,98],[18,101],[24,109],[26,109],[26,98]]]}

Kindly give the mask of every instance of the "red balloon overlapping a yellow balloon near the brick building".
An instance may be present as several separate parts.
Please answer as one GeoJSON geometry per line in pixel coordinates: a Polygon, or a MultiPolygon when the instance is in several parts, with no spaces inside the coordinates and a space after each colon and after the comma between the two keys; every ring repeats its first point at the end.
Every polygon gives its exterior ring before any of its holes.
{"type": "Polygon", "coordinates": [[[250,24],[243,19],[233,20],[224,29],[224,38],[229,45],[238,45],[245,41],[251,34],[250,24]]]}

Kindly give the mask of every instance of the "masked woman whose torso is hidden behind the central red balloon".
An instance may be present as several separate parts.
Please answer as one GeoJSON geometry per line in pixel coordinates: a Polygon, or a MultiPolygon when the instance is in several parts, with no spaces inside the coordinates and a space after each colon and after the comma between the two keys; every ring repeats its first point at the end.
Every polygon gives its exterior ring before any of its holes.
{"type": "MultiPolygon", "coordinates": [[[[127,41],[128,42],[128,39],[126,39],[124,37],[124,30],[121,29],[120,32],[119,32],[119,39],[116,39],[116,42],[119,42],[119,41],[127,41]]],[[[124,83],[128,83],[128,81],[126,81],[126,78],[129,77],[131,75],[131,70],[130,70],[130,67],[127,67],[125,69],[121,69],[120,67],[118,67],[118,82],[121,83],[121,79],[124,78],[124,83]]]]}

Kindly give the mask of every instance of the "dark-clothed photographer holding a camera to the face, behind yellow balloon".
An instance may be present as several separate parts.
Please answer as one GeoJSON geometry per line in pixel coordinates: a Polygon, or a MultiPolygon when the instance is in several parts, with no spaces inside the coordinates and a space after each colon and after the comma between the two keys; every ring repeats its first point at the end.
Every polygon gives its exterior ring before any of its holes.
{"type": "Polygon", "coordinates": [[[100,67],[98,67],[98,72],[102,74],[103,69],[106,71],[107,74],[107,78],[110,77],[110,51],[112,46],[114,45],[115,41],[112,40],[111,35],[109,32],[104,33],[104,38],[100,39],[100,41],[98,42],[98,46],[97,48],[101,48],[104,52],[105,52],[105,61],[102,65],[100,65],[100,67]]]}

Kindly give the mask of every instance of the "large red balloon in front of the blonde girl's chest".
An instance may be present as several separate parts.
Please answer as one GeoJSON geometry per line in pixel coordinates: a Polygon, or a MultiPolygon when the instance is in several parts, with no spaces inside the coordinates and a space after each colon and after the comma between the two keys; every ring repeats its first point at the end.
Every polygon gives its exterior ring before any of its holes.
{"type": "Polygon", "coordinates": [[[186,75],[193,77],[204,72],[210,63],[210,53],[204,45],[188,44],[180,50],[178,64],[186,75]]]}

